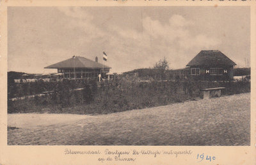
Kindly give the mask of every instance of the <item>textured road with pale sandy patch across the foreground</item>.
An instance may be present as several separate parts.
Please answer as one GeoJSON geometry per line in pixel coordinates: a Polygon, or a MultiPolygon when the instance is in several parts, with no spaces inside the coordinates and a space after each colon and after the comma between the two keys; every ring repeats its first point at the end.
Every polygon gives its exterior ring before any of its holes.
{"type": "Polygon", "coordinates": [[[97,116],[31,115],[8,114],[8,145],[250,145],[250,93],[97,116]]]}

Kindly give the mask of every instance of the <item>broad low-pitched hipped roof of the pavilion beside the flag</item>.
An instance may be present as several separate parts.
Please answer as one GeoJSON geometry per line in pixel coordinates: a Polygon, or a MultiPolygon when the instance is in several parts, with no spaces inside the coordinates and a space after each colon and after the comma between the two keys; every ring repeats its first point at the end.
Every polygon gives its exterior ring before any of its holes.
{"type": "MultiPolygon", "coordinates": [[[[76,58],[74,59],[70,58],[59,63],[54,63],[45,68],[74,68],[74,63],[76,68],[103,68],[103,65],[101,63],[97,63],[95,61],[92,61],[91,59],[87,59],[81,56],[76,56],[76,58]]],[[[104,65],[104,68],[111,67],[104,65]]]]}

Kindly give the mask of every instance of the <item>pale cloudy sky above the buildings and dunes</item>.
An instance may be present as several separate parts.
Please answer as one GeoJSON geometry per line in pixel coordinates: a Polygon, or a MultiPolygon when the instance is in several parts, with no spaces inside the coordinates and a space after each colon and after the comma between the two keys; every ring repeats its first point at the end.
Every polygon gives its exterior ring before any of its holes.
{"type": "Polygon", "coordinates": [[[8,7],[8,71],[57,72],[44,67],[74,55],[103,63],[103,51],[112,73],[164,57],[177,69],[201,50],[250,62],[250,7],[8,7]]]}

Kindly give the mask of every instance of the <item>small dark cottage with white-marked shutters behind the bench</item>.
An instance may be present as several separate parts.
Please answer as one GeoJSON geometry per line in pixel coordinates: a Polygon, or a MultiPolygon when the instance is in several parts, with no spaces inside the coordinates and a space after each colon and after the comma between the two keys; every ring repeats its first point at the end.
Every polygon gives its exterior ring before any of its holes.
{"type": "Polygon", "coordinates": [[[228,80],[233,79],[233,68],[236,65],[225,54],[218,50],[200,51],[186,67],[192,79],[228,80]]]}

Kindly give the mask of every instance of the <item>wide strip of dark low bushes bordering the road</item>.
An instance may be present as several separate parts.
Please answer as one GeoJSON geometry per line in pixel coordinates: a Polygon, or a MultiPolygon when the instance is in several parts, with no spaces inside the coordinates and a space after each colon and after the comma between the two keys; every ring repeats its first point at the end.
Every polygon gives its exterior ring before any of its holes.
{"type": "Polygon", "coordinates": [[[162,106],[202,97],[203,88],[225,87],[224,95],[250,92],[250,81],[150,81],[139,82],[121,77],[101,83],[74,81],[55,84],[54,93],[24,100],[8,101],[8,113],[115,113],[130,109],[162,106]],[[75,84],[75,85],[74,85],[75,84]]]}

